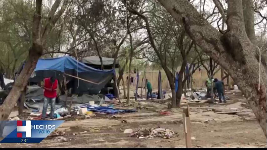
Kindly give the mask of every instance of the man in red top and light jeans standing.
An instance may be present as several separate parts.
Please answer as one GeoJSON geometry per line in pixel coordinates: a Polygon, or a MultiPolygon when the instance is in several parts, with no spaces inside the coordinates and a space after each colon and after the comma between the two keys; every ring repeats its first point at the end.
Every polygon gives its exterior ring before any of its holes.
{"type": "Polygon", "coordinates": [[[43,100],[43,112],[42,119],[46,118],[46,111],[48,107],[48,103],[51,105],[50,118],[54,118],[55,111],[55,103],[57,97],[57,88],[58,88],[58,80],[55,77],[51,76],[50,78],[45,78],[43,82],[44,88],[44,100],[43,100]]]}

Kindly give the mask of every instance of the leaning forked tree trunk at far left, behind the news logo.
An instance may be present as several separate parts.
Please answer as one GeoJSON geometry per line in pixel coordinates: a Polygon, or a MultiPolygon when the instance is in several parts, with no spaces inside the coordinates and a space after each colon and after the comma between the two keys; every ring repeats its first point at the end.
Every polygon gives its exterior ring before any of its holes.
{"type": "Polygon", "coordinates": [[[16,102],[18,101],[21,92],[27,85],[27,81],[30,78],[33,70],[36,67],[37,61],[42,56],[43,53],[43,45],[45,45],[46,37],[48,33],[51,32],[52,27],[57,22],[58,18],[63,14],[65,9],[67,8],[68,1],[63,2],[63,6],[61,9],[55,14],[54,11],[55,7],[59,6],[58,2],[60,0],[56,0],[52,6],[53,9],[50,10],[48,18],[48,23],[42,30],[41,20],[42,20],[42,0],[36,0],[36,7],[35,13],[33,16],[33,28],[32,28],[32,38],[33,43],[32,46],[29,48],[29,56],[28,60],[24,68],[22,69],[21,73],[19,74],[18,78],[16,79],[13,88],[9,92],[7,98],[5,99],[2,106],[0,106],[0,120],[7,120],[9,114],[12,112],[16,102]],[[54,16],[52,16],[55,14],[54,16]],[[42,32],[43,31],[43,32],[42,32]]]}

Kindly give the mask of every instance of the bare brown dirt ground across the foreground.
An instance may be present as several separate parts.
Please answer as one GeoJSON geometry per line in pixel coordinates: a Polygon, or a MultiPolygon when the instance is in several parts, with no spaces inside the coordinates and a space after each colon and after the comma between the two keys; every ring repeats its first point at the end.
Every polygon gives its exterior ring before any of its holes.
{"type": "MultiPolygon", "coordinates": [[[[266,148],[266,138],[240,91],[228,91],[227,104],[188,103],[193,147],[195,148],[266,148]],[[234,93],[234,95],[233,95],[234,93]],[[226,111],[244,113],[218,114],[226,111]]],[[[186,101],[183,101],[186,102],[186,101]]],[[[68,142],[46,138],[38,144],[1,144],[1,148],[184,148],[182,109],[168,110],[166,101],[140,101],[136,113],[97,115],[84,120],[65,121],[58,131],[68,142]],[[145,108],[143,108],[145,107],[145,108]],[[169,111],[170,115],[160,112],[169,111]],[[126,120],[127,123],[122,123],[126,120]],[[125,129],[168,128],[178,137],[137,139],[124,134],[125,129]]],[[[182,103],[182,108],[187,104],[182,103]]]]}

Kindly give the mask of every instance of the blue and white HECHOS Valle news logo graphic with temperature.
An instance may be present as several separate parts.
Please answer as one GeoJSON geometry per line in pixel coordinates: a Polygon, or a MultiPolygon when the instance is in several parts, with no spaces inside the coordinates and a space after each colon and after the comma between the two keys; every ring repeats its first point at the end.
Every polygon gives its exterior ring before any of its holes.
{"type": "Polygon", "coordinates": [[[50,133],[57,129],[62,120],[18,120],[2,121],[0,136],[4,138],[0,143],[40,143],[50,133]]]}

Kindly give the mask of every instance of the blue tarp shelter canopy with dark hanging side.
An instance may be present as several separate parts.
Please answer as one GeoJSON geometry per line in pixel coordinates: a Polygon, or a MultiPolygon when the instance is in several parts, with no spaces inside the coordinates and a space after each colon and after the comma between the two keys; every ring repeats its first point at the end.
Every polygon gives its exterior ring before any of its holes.
{"type": "Polygon", "coordinates": [[[44,78],[55,76],[58,80],[74,80],[74,93],[98,94],[115,75],[115,70],[91,68],[72,57],[39,59],[30,78],[30,82],[40,82],[44,78]]]}

